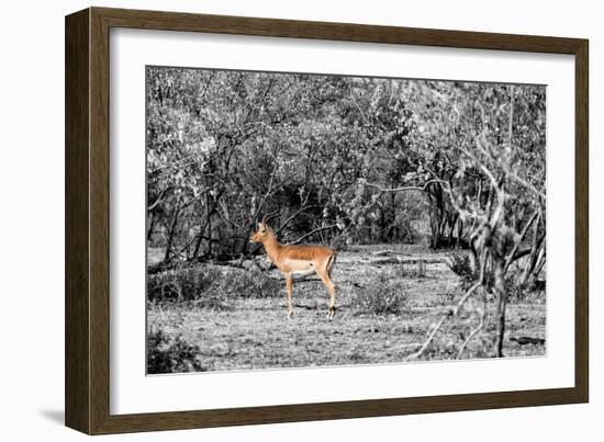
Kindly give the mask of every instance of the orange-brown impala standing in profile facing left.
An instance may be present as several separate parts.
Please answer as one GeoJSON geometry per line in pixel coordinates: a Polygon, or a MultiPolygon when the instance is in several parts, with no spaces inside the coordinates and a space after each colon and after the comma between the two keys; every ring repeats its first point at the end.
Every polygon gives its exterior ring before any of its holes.
{"type": "Polygon", "coordinates": [[[327,291],[329,292],[329,309],[327,317],[332,319],[336,313],[335,285],[331,275],[336,263],[336,253],[328,247],[323,246],[284,246],[277,241],[275,233],[267,224],[275,214],[266,215],[261,223],[258,223],[258,230],[249,238],[250,242],[261,242],[270,261],[283,273],[288,291],[288,318],[293,315],[291,302],[292,276],[297,273],[316,273],[327,291]]]}

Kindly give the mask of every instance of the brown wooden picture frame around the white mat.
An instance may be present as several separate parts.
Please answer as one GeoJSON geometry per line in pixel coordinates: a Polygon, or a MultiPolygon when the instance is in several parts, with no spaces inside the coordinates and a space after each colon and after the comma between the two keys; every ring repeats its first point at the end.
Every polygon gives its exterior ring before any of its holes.
{"type": "Polygon", "coordinates": [[[588,41],[89,8],[66,18],[66,424],[88,434],[585,403],[589,397],[588,41]],[[111,27],[570,54],[575,61],[574,387],[303,405],[110,413],[111,27]]]}

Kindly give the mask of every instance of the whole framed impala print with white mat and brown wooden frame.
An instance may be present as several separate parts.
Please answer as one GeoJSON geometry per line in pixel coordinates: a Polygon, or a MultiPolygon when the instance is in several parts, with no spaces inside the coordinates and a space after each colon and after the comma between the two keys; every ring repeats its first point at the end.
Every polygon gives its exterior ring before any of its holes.
{"type": "Polygon", "coordinates": [[[588,401],[588,41],[66,18],[66,424],[588,401]]]}

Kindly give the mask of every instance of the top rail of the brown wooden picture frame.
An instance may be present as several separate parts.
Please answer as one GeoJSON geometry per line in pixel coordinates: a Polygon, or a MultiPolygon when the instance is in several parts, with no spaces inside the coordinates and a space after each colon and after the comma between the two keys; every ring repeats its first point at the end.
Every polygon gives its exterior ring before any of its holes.
{"type": "Polygon", "coordinates": [[[574,54],[577,38],[94,8],[116,27],[574,54]]]}

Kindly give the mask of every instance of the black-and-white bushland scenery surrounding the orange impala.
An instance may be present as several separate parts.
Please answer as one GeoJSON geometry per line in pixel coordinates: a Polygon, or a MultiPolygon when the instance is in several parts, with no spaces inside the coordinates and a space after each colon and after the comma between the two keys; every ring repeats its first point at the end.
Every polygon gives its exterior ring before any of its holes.
{"type": "Polygon", "coordinates": [[[546,353],[545,86],[148,66],[146,148],[149,374],[546,353]]]}

